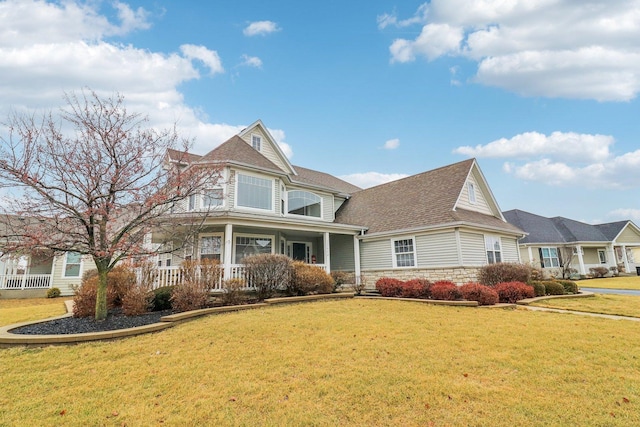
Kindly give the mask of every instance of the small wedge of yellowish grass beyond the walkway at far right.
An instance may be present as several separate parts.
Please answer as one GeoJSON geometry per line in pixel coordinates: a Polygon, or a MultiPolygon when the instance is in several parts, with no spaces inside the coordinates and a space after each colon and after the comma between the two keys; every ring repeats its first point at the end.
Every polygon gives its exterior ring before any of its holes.
{"type": "Polygon", "coordinates": [[[589,313],[640,317],[640,296],[600,294],[589,298],[560,298],[533,303],[538,307],[562,308],[589,313]]]}

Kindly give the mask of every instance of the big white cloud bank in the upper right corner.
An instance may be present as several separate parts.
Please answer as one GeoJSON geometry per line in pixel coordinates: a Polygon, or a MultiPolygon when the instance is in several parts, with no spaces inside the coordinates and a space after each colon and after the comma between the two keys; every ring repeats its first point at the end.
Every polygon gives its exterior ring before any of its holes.
{"type": "Polygon", "coordinates": [[[406,20],[423,25],[389,47],[392,62],[464,57],[475,81],[525,96],[628,101],[640,92],[640,2],[432,0],[406,20]]]}

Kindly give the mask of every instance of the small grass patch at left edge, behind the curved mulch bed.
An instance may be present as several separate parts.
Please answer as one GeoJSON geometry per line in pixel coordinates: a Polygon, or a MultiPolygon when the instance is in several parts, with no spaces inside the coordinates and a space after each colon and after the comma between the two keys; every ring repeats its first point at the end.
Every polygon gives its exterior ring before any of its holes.
{"type": "Polygon", "coordinates": [[[0,326],[60,316],[68,298],[0,299],[0,326]]]}

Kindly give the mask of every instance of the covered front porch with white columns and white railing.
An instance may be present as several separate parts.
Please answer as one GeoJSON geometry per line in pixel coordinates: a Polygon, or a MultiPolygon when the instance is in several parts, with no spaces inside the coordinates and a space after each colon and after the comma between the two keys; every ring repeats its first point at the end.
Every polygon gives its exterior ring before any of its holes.
{"type": "MultiPolygon", "coordinates": [[[[153,287],[181,283],[186,260],[217,260],[218,279],[213,290],[222,290],[229,279],[246,279],[242,260],[257,254],[282,254],[289,258],[323,268],[327,273],[340,270],[360,276],[358,230],[352,227],[318,226],[286,227],[280,224],[254,225],[243,222],[210,224],[187,242],[171,242],[173,249],[155,257],[153,287]]],[[[156,239],[161,236],[155,236],[156,239]]],[[[153,239],[152,239],[153,243],[153,239]]],[[[251,283],[247,283],[251,288],[251,283]]]]}

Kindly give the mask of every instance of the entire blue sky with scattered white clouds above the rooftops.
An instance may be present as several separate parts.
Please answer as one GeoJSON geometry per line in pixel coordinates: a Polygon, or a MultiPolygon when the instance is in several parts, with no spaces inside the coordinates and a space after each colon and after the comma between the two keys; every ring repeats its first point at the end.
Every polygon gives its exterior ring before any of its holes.
{"type": "Polygon", "coordinates": [[[640,1],[0,1],[0,117],[122,93],[205,153],[261,119],[370,186],[476,157],[503,210],[640,224],[640,1]]]}

